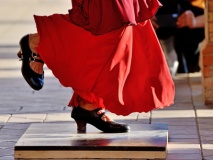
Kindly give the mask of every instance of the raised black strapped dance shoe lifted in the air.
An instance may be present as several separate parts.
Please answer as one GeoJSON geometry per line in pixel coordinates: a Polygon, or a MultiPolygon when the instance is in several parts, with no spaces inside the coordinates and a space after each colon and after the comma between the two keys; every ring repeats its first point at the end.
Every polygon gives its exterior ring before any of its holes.
{"type": "Polygon", "coordinates": [[[26,35],[20,40],[19,45],[21,51],[17,54],[17,56],[20,58],[20,60],[22,60],[21,72],[24,79],[34,90],[40,90],[44,85],[44,72],[42,74],[34,72],[30,67],[30,62],[44,62],[35,58],[39,57],[39,55],[30,50],[28,39],[29,35],[26,35]]]}

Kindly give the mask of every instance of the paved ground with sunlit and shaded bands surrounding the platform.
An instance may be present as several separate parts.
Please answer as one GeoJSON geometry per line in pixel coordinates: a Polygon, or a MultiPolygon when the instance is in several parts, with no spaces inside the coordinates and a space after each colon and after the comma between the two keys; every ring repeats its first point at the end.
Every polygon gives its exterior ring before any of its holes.
{"type": "MultiPolygon", "coordinates": [[[[72,90],[45,68],[45,86],[30,89],[20,73],[19,39],[36,32],[33,14],[66,13],[68,0],[0,0],[0,160],[12,160],[14,145],[31,123],[68,122],[72,90]]],[[[201,74],[178,75],[175,104],[147,114],[113,117],[137,123],[167,123],[167,160],[213,160],[213,105],[202,101],[201,74]],[[132,118],[133,117],[133,118],[132,118]]]]}

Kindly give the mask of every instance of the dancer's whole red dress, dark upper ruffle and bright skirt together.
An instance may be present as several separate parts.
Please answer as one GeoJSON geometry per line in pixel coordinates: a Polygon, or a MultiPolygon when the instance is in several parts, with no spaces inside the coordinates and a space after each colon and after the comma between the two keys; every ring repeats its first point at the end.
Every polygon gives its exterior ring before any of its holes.
{"type": "Polygon", "coordinates": [[[79,99],[118,115],[173,103],[174,83],[151,18],[157,0],[73,0],[69,14],[34,16],[38,53],[79,99]]]}

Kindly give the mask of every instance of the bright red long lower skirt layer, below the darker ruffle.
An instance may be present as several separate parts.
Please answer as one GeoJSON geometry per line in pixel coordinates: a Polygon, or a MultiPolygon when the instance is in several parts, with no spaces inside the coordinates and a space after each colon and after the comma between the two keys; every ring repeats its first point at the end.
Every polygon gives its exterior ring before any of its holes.
{"type": "Polygon", "coordinates": [[[74,95],[118,115],[173,103],[174,83],[149,20],[93,35],[68,15],[35,16],[38,53],[74,95]]]}

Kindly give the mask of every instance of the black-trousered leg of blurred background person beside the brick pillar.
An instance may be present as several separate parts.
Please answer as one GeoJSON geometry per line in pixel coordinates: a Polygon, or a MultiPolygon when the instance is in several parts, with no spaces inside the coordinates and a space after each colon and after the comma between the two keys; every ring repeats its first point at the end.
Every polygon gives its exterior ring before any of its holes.
{"type": "Polygon", "coordinates": [[[204,39],[204,29],[183,28],[175,34],[175,51],[178,56],[178,73],[199,72],[199,44],[204,39]]]}

